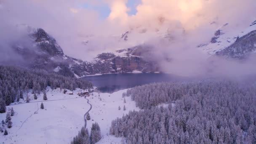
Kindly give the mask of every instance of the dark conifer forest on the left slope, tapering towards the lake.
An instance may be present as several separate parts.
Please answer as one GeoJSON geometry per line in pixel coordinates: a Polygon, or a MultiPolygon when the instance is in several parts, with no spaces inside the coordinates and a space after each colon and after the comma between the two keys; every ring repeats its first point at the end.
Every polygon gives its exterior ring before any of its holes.
{"type": "Polygon", "coordinates": [[[24,99],[29,89],[32,89],[32,93],[40,94],[47,86],[52,89],[61,88],[73,91],[75,88],[92,88],[92,83],[42,69],[0,66],[0,113],[6,111],[5,105],[24,99]]]}

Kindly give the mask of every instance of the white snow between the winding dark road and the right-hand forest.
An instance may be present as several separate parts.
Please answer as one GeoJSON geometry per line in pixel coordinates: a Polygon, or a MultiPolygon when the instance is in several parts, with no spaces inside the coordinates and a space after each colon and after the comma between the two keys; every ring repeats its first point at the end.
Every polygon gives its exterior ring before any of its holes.
{"type": "Polygon", "coordinates": [[[92,123],[97,122],[100,125],[101,134],[103,135],[103,138],[97,144],[120,144],[122,138],[108,136],[111,121],[116,119],[117,117],[122,117],[130,110],[139,110],[139,108],[136,107],[135,102],[131,101],[131,97],[125,97],[126,103],[123,103],[123,92],[126,92],[126,90],[117,91],[111,94],[100,93],[100,97],[98,93],[93,93],[94,96],[90,96],[89,100],[90,103],[93,105],[93,108],[90,111],[91,120],[87,122],[88,128],[91,128],[92,123]],[[99,98],[101,98],[101,101],[99,98]],[[123,111],[124,105],[126,108],[125,111],[123,111]],[[121,110],[118,110],[118,106],[121,107],[121,110]]]}

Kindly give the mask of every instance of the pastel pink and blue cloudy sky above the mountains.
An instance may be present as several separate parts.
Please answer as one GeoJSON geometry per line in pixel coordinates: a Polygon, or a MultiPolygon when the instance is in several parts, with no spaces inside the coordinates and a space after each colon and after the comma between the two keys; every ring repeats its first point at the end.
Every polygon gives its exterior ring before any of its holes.
{"type": "Polygon", "coordinates": [[[156,29],[168,29],[174,37],[184,30],[197,33],[200,42],[196,43],[204,43],[221,25],[245,27],[256,13],[255,0],[0,0],[0,3],[0,16],[5,23],[2,25],[9,26],[8,29],[17,24],[42,27],[56,38],[67,55],[83,60],[101,51],[147,43],[155,39],[152,32],[156,29]],[[210,25],[213,21],[215,24],[210,25]],[[138,27],[138,31],[147,29],[149,34],[134,34],[138,27]],[[120,43],[118,38],[129,30],[134,31],[130,41],[120,43]],[[81,43],[84,40],[89,40],[88,45],[81,43]]]}

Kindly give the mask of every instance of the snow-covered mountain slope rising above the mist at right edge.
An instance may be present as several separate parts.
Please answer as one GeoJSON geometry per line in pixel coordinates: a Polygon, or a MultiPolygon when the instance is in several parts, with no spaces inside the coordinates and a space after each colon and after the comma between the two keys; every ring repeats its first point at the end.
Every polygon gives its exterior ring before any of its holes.
{"type": "Polygon", "coordinates": [[[229,24],[217,29],[209,43],[199,45],[209,56],[217,54],[227,58],[241,59],[256,51],[256,21],[243,31],[231,29],[229,24]]]}

